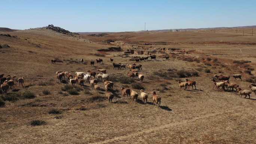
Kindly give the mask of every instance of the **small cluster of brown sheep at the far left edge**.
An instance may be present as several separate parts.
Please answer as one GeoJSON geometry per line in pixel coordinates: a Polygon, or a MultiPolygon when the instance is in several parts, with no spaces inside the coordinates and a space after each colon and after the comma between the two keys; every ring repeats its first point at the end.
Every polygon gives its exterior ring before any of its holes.
{"type": "MultiPolygon", "coordinates": [[[[15,85],[15,78],[16,76],[6,76],[4,77],[4,74],[0,74],[0,83],[1,83],[1,93],[2,91],[7,93],[7,91],[9,91],[9,89],[14,89],[14,85],[15,85]]],[[[19,83],[19,86],[21,85],[23,87],[24,85],[24,77],[19,77],[17,79],[17,82],[19,83]]]]}

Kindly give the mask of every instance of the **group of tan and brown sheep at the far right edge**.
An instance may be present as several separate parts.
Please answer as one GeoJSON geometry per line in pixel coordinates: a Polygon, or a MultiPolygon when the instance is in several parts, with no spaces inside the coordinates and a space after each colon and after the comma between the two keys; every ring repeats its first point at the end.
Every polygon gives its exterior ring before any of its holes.
{"type": "MultiPolygon", "coordinates": [[[[240,79],[242,81],[242,75],[241,74],[232,74],[232,77],[234,77],[235,80],[240,79]]],[[[244,98],[246,98],[247,96],[249,96],[249,98],[251,97],[250,94],[252,94],[252,92],[255,93],[256,95],[256,84],[251,83],[248,87],[251,90],[247,90],[244,89],[242,90],[239,85],[237,83],[231,83],[229,82],[229,79],[231,76],[224,76],[222,74],[220,75],[214,75],[213,78],[211,78],[211,80],[213,81],[213,89],[216,87],[216,89],[223,89],[225,90],[232,90],[234,91],[234,89],[238,92],[238,95],[240,97],[242,97],[243,95],[245,96],[244,98]]]]}

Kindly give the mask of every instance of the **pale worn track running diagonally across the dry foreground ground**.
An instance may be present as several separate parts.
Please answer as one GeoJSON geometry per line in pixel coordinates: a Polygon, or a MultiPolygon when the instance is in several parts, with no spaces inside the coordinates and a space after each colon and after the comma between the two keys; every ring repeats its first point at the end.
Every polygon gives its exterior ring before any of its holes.
{"type": "MultiPolygon", "coordinates": [[[[230,112],[230,111],[225,111],[225,112],[222,112],[222,113],[226,113],[226,112],[230,112]]],[[[168,123],[166,125],[161,125],[161,126],[158,126],[156,128],[145,129],[145,130],[142,130],[140,132],[135,132],[135,133],[128,134],[128,135],[122,135],[122,136],[119,136],[119,137],[111,138],[109,140],[99,141],[99,142],[89,143],[89,144],[105,144],[105,143],[110,143],[110,142],[113,142],[113,141],[122,140],[122,139],[126,139],[126,138],[129,138],[129,137],[134,137],[134,136],[142,135],[144,133],[150,133],[150,132],[153,132],[153,131],[159,131],[159,130],[162,130],[162,129],[170,128],[172,126],[185,125],[188,122],[192,122],[192,121],[195,121],[195,120],[198,120],[198,119],[204,119],[204,118],[211,117],[211,116],[216,116],[216,115],[222,114],[222,113],[206,114],[204,116],[194,117],[194,118],[192,118],[190,120],[183,120],[182,122],[168,123]]]]}

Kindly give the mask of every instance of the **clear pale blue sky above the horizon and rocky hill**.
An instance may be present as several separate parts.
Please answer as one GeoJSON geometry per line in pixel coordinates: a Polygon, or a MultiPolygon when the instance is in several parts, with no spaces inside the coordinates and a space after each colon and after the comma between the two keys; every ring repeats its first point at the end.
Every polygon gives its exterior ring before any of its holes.
{"type": "Polygon", "coordinates": [[[256,0],[1,0],[0,27],[73,32],[256,25],[256,0]]]}

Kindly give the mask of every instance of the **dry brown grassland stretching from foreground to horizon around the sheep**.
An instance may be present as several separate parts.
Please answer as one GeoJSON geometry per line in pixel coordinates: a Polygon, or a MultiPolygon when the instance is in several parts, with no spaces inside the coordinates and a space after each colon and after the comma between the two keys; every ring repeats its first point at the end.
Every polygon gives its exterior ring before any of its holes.
{"type": "Polygon", "coordinates": [[[0,32],[17,36],[0,36],[0,45],[10,46],[0,49],[0,74],[23,76],[25,87],[15,82],[15,89],[21,89],[19,94],[25,91],[35,94],[31,99],[18,97],[4,101],[4,107],[0,107],[0,143],[255,144],[255,93],[250,99],[240,98],[236,91],[213,89],[210,80],[215,74],[241,74],[242,81],[233,77],[229,80],[248,90],[250,80],[256,81],[253,76],[256,35],[250,35],[250,28],[245,30],[245,36],[241,30],[239,33],[234,30],[122,32],[100,37],[68,36],[46,29],[0,32]],[[98,51],[118,46],[121,52],[98,51]],[[132,61],[135,56],[149,56],[124,54],[134,48],[155,50],[156,61],[132,61]],[[166,60],[165,55],[170,59],[166,60]],[[54,58],[61,62],[52,64],[54,58]],[[80,58],[85,60],[84,64],[79,62],[80,58]],[[91,66],[91,59],[98,58],[103,59],[103,64],[91,66]],[[118,78],[126,76],[128,67],[113,70],[110,58],[115,63],[143,65],[142,86],[150,93],[147,104],[140,97],[138,101],[123,98],[122,86],[140,94],[140,89],[132,88],[140,82],[121,83],[118,78]],[[251,62],[237,64],[235,60],[251,62]],[[238,66],[251,68],[251,74],[238,66]],[[105,98],[102,82],[98,83],[100,93],[85,83],[85,87],[76,84],[79,94],[71,95],[62,91],[65,84],[58,82],[55,75],[56,71],[74,74],[97,69],[107,69],[115,83],[113,102],[105,98]],[[180,90],[178,81],[186,78],[196,81],[196,90],[191,87],[188,91],[180,90]],[[43,94],[44,90],[50,94],[43,94]],[[159,108],[153,105],[153,90],[162,98],[159,108]],[[52,110],[57,114],[49,113],[52,110]],[[31,126],[33,120],[45,123],[31,126]]]}

